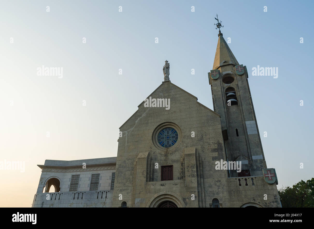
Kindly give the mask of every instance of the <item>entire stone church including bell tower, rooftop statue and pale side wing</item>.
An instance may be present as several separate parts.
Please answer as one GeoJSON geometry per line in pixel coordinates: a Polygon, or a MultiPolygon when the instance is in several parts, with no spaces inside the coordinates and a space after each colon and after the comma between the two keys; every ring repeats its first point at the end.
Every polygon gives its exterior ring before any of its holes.
{"type": "Polygon", "coordinates": [[[32,207],[281,207],[248,72],[218,37],[214,111],[169,80],[166,61],[164,81],[120,127],[117,157],[46,160],[32,207]]]}

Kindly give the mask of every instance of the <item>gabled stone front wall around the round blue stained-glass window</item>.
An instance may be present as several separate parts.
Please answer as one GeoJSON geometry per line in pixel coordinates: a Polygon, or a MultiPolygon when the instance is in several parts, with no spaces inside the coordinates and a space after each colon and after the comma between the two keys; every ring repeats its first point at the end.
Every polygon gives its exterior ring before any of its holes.
{"type": "Polygon", "coordinates": [[[154,206],[168,199],[182,207],[205,206],[208,179],[227,176],[214,169],[216,158],[225,159],[219,115],[169,81],[150,96],[170,98],[170,109],[142,103],[120,128],[113,207],[122,201],[130,207],[154,206]],[[180,133],[169,149],[154,144],[154,131],[163,125],[180,133]],[[173,165],[173,180],[161,181],[163,165],[173,165]]]}

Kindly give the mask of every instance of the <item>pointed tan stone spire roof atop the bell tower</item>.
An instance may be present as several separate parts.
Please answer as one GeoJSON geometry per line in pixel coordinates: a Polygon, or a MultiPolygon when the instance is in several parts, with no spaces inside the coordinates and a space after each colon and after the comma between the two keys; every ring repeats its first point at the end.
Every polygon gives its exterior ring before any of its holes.
{"type": "Polygon", "coordinates": [[[236,57],[231,52],[227,42],[225,41],[222,33],[219,30],[218,34],[218,44],[214,59],[213,70],[219,68],[219,66],[223,65],[224,63],[229,63],[233,65],[239,65],[236,57]]]}

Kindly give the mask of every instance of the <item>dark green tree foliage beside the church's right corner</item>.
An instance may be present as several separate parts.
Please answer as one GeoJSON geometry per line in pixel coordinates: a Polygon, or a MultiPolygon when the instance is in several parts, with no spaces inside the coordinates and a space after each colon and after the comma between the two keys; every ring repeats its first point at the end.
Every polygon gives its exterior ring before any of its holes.
{"type": "Polygon", "coordinates": [[[314,207],[314,178],[278,190],[282,207],[314,207]]]}

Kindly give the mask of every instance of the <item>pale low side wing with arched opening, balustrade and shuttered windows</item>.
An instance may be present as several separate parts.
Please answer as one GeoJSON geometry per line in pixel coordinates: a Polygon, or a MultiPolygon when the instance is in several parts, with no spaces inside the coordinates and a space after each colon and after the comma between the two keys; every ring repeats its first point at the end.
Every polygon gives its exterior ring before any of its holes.
{"type": "Polygon", "coordinates": [[[45,160],[32,207],[111,207],[116,157],[45,160]],[[84,166],[85,165],[85,166],[84,166]],[[49,192],[51,186],[55,192],[49,192]]]}

